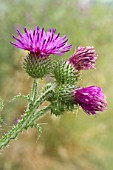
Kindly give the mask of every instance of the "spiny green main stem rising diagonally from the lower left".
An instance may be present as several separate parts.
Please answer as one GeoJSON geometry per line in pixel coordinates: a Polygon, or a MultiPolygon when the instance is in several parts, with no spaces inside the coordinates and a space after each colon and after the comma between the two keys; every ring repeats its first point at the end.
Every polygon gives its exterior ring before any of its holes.
{"type": "MultiPolygon", "coordinates": [[[[35,88],[37,88],[37,86],[35,86],[35,88]]],[[[0,139],[0,150],[7,146],[12,139],[15,139],[20,132],[31,126],[31,124],[33,124],[33,122],[37,118],[39,118],[49,109],[49,107],[45,108],[45,110],[44,109],[40,110],[38,114],[36,114],[37,108],[47,99],[50,91],[53,88],[54,86],[47,89],[37,100],[35,100],[35,102],[34,101],[29,102],[27,110],[25,111],[20,122],[0,139]]],[[[30,97],[32,98],[32,96],[33,95],[31,95],[30,97]]]]}

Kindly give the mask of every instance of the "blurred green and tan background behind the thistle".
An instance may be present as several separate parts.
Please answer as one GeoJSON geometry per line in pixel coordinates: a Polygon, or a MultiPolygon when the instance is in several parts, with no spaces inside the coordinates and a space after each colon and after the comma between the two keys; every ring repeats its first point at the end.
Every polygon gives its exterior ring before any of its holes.
{"type": "MultiPolygon", "coordinates": [[[[28,94],[32,80],[22,69],[25,52],[9,43],[15,29],[26,26],[55,27],[66,34],[73,49],[94,46],[96,70],[84,71],[80,85],[101,86],[108,109],[88,116],[81,109],[61,117],[41,118],[43,133],[29,129],[0,153],[0,170],[113,170],[113,1],[0,0],[0,96],[6,108],[1,112],[0,136],[11,129],[25,110],[26,101],[8,103],[19,92],[28,94]]],[[[40,82],[40,85],[44,84],[40,82]]]]}

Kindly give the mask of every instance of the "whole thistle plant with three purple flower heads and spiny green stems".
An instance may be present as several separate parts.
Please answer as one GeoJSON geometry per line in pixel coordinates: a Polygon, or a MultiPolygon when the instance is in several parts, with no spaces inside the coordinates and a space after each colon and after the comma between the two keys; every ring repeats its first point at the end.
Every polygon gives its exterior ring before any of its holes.
{"type": "Polygon", "coordinates": [[[100,87],[84,88],[78,84],[81,70],[95,68],[94,47],[80,46],[67,61],[56,61],[52,55],[62,56],[72,47],[67,45],[66,36],[56,34],[56,29],[50,28],[45,32],[44,28],[39,27],[34,30],[24,28],[23,34],[17,30],[17,37],[14,35],[12,37],[15,40],[11,42],[14,47],[28,51],[23,60],[23,68],[33,79],[33,85],[27,96],[20,94],[14,97],[14,99],[24,97],[28,104],[21,120],[0,139],[1,150],[28,128],[37,128],[40,136],[41,127],[37,120],[47,112],[60,116],[65,111],[81,107],[88,115],[95,115],[97,111],[106,109],[107,102],[100,87]],[[38,93],[38,80],[44,79],[47,75],[53,80],[38,93]],[[48,105],[42,107],[45,101],[48,101],[48,105]]]}

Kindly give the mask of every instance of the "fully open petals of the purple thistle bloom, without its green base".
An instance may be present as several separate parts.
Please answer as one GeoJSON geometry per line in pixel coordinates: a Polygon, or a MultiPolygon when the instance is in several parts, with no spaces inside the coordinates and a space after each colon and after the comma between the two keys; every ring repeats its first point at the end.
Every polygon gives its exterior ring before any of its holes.
{"type": "Polygon", "coordinates": [[[11,42],[16,48],[28,50],[31,54],[40,57],[48,57],[50,54],[62,55],[70,50],[72,45],[67,46],[66,36],[60,37],[55,34],[56,29],[50,28],[47,32],[44,28],[37,27],[35,30],[24,28],[24,34],[17,29],[18,38],[12,35],[16,42],[11,42]]]}

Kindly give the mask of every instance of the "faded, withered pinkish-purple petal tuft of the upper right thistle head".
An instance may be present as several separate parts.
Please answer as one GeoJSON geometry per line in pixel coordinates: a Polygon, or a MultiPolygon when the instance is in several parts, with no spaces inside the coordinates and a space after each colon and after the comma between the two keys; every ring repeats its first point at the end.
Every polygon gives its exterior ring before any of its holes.
{"type": "Polygon", "coordinates": [[[78,71],[95,68],[96,53],[94,47],[78,47],[78,50],[69,58],[68,62],[78,71]]]}

